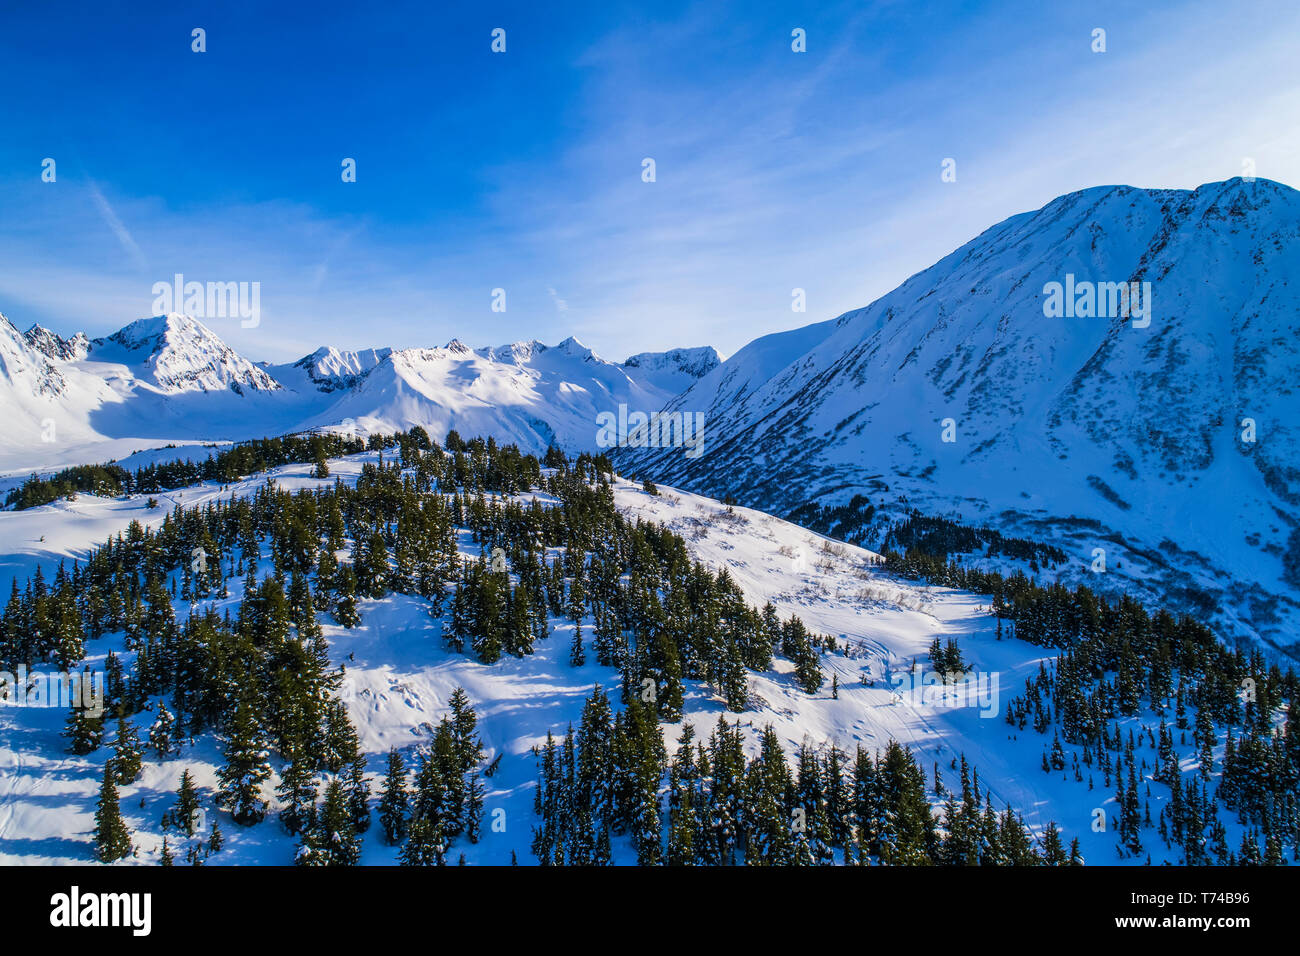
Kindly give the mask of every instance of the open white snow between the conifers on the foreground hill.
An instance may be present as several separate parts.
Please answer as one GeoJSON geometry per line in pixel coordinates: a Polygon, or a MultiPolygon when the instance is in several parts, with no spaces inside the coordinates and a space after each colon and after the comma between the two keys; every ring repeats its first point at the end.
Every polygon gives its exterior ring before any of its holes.
{"type": "MultiPolygon", "coordinates": [[[[291,490],[329,486],[335,479],[352,483],[363,464],[376,458],[377,453],[370,453],[332,460],[329,479],[311,477],[311,466],[280,468],[273,477],[291,490]]],[[[60,559],[84,555],[92,544],[125,531],[133,520],[156,527],[174,506],[251,496],[265,477],[252,476],[226,488],[212,484],[159,494],[155,509],[148,509],[143,497],[81,496],[75,502],[0,512],[0,568],[30,574],[39,563],[49,579],[60,559]]],[[[811,630],[837,635],[849,645],[848,654],[822,657],[828,680],[812,696],[794,685],[788,661],[779,659],[772,671],[751,674],[753,705],[738,715],[728,714],[708,687],[689,682],[682,722],[693,723],[697,736],[707,736],[718,718],[727,717],[741,721],[750,753],[757,752],[757,731],[768,723],[790,750],[805,741],[833,741],[850,753],[858,744],[876,752],[889,740],[898,740],[913,748],[927,773],[931,766],[941,767],[950,784],[956,780],[956,761],[965,756],[979,769],[998,809],[1010,804],[1037,832],[1054,819],[1067,844],[1079,838],[1089,862],[1117,861],[1115,832],[1095,832],[1092,827],[1093,808],[1114,813],[1113,792],[1101,787],[1100,777],[1097,788],[1092,788],[1062,773],[1044,774],[1040,761],[1045,737],[1017,731],[1002,719],[1001,708],[1045,659],[1041,648],[998,640],[988,606],[972,594],[883,575],[871,551],[828,542],[757,511],[725,509],[716,501],[668,488],[662,492],[653,497],[620,480],[615,503],[629,518],[668,524],[685,538],[696,558],[714,570],[725,567],[754,604],[771,600],[783,618],[797,614],[811,630]],[[924,661],[936,636],[958,639],[971,669],[994,682],[991,687],[996,687],[996,695],[991,691],[988,708],[894,695],[894,675],[914,659],[924,661]],[[832,674],[838,683],[837,696],[831,689],[832,674]]],[[[460,548],[467,558],[477,555],[477,545],[467,536],[460,548]]],[[[269,563],[266,558],[264,566],[269,563]]],[[[230,598],[218,601],[217,611],[237,606],[240,592],[242,581],[234,579],[230,598]]],[[[447,713],[452,689],[463,687],[481,714],[485,763],[500,757],[499,770],[488,782],[485,812],[491,818],[502,810],[507,825],[503,830],[485,827],[478,844],[458,842],[455,852],[463,851],[469,862],[506,864],[514,851],[520,862],[534,862],[529,852],[537,822],[532,809],[537,779],[532,748],[543,744],[549,731],[563,736],[571,723],[578,722],[593,685],[616,693],[616,669],[594,662],[573,667],[568,661],[573,624],[562,618],[551,618],[552,633],[538,643],[534,654],[506,657],[488,666],[447,650],[441,622],[417,598],[390,594],[359,606],[360,627],[350,631],[324,618],[324,630],[334,665],[346,669],[341,696],[358,727],[368,771],[376,777],[372,792],[378,791],[377,778],[389,748],[402,750],[408,766],[415,763],[419,748],[428,744],[432,728],[447,713]]],[[[187,610],[183,601],[177,604],[178,615],[187,610]]],[[[588,618],[585,633],[590,633],[590,626],[588,618]]],[[[101,667],[109,649],[122,654],[121,641],[105,637],[92,643],[87,665],[101,667]]],[[[65,718],[64,709],[0,708],[0,864],[90,860],[103,761],[112,750],[104,748],[88,757],[68,754],[65,718]]],[[[147,724],[147,713],[142,714],[136,722],[147,724]]],[[[1124,732],[1138,726],[1135,718],[1118,721],[1124,732]]],[[[670,750],[680,731],[681,723],[663,726],[670,750]]],[[[1154,749],[1148,752],[1141,732],[1138,740],[1139,756],[1154,762],[1154,749]]],[[[1222,754],[1222,740],[1217,753],[1222,754]]],[[[157,861],[162,840],[159,821],[176,801],[182,770],[191,771],[203,805],[211,808],[221,763],[218,741],[203,734],[176,757],[161,762],[151,757],[143,777],[122,787],[122,812],[138,848],[134,862],[157,861]]],[[[276,784],[278,777],[266,783],[265,792],[269,795],[276,784]]],[[[1169,791],[1162,786],[1150,790],[1150,810],[1158,816],[1169,803],[1169,791]]],[[[221,825],[226,848],[209,862],[283,865],[292,858],[294,838],[273,819],[244,829],[221,814],[221,825]]],[[[1239,827],[1230,827],[1235,845],[1239,827]]],[[[395,861],[396,848],[385,847],[377,830],[372,826],[365,836],[363,864],[395,861]]],[[[1158,864],[1167,851],[1154,839],[1150,843],[1158,864]]],[[[625,839],[618,842],[614,855],[619,862],[636,858],[625,839]]]]}

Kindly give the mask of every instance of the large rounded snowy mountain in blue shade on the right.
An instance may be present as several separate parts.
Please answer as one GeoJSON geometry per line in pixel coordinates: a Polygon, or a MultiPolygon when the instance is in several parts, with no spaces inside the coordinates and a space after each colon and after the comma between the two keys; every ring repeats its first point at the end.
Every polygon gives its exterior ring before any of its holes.
{"type": "Polygon", "coordinates": [[[1277,182],[1072,193],[866,308],[750,343],[670,406],[705,414],[702,455],[619,464],[776,514],[904,498],[1295,650],[1297,263],[1300,193],[1277,182]],[[1139,284],[1128,317],[1112,282],[1139,284]]]}

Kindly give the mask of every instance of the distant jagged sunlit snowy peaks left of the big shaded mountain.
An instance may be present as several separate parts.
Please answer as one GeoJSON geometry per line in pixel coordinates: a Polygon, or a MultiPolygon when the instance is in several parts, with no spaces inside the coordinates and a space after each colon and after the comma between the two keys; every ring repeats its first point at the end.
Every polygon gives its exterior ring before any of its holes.
{"type": "Polygon", "coordinates": [[[472,350],[321,347],[254,363],[183,315],[142,319],[90,341],[0,326],[0,468],[104,460],[161,442],[254,438],[309,428],[422,425],[493,434],[528,451],[595,450],[597,416],[653,412],[718,363],[712,349],[607,362],[576,338],[472,350]]]}

